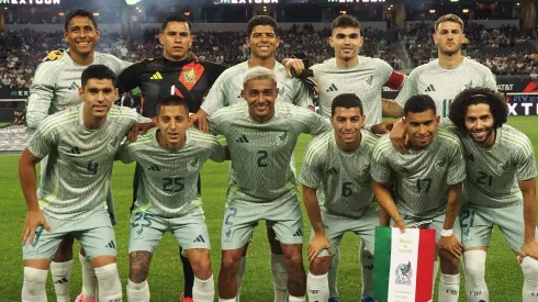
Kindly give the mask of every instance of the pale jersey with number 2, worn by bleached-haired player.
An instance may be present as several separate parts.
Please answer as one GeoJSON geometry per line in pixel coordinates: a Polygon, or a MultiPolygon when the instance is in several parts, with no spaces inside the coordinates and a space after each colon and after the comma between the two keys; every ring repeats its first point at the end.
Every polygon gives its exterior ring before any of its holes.
{"type": "Polygon", "coordinates": [[[255,122],[247,102],[242,102],[210,115],[210,126],[226,138],[232,155],[234,181],[228,201],[257,203],[285,201],[296,194],[290,160],[299,135],[320,135],[330,128],[320,114],[279,101],[268,122],[255,122]]]}

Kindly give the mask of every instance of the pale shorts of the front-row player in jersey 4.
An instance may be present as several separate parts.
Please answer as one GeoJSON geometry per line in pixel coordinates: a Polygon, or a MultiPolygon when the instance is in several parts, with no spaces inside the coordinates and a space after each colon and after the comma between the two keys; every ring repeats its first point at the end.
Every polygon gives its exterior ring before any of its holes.
{"type": "MultiPolygon", "coordinates": [[[[42,212],[43,213],[43,212],[42,212]]],[[[22,247],[23,259],[53,259],[58,245],[66,235],[71,235],[90,259],[99,256],[116,256],[116,242],[109,213],[97,209],[80,220],[66,221],[53,219],[43,213],[52,228],[47,232],[42,226],[36,230],[32,244],[26,242],[22,247]]]]}

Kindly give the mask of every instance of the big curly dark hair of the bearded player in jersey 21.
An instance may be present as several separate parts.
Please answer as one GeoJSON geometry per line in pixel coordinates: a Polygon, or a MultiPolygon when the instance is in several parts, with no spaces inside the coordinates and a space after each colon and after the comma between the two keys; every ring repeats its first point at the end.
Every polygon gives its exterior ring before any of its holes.
{"type": "Polygon", "coordinates": [[[489,104],[491,114],[493,115],[493,125],[502,126],[508,118],[508,109],[506,108],[505,98],[489,88],[469,88],[456,96],[448,118],[460,130],[466,128],[467,108],[473,104],[489,104]]]}

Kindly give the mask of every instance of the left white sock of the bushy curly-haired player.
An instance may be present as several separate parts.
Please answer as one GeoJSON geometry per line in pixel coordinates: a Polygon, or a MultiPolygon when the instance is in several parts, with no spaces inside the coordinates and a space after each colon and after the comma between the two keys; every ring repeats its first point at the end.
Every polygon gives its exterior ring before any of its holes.
{"type": "Polygon", "coordinates": [[[466,295],[469,302],[490,301],[490,292],[485,284],[485,250],[463,253],[466,269],[466,295]]]}

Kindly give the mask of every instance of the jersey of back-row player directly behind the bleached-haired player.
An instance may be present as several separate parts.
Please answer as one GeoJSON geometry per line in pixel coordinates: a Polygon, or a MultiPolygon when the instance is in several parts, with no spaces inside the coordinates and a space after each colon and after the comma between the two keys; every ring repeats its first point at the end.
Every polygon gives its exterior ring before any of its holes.
{"type": "MultiPolygon", "coordinates": [[[[272,70],[277,76],[277,87],[279,89],[277,101],[284,101],[302,108],[313,105],[309,89],[301,80],[288,77],[285,67],[282,64],[274,61],[272,70]]],[[[243,80],[247,71],[248,61],[239,63],[226,69],[216,79],[208,93],[202,104],[202,110],[211,115],[221,108],[244,102],[245,99],[242,97],[243,80]]]]}

